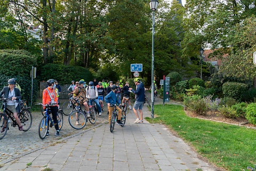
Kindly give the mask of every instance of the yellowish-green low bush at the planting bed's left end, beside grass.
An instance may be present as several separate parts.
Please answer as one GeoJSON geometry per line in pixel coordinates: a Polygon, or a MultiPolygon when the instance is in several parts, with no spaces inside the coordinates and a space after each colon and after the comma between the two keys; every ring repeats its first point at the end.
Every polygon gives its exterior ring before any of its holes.
{"type": "Polygon", "coordinates": [[[208,111],[207,104],[199,95],[184,96],[184,105],[188,110],[198,115],[205,115],[208,111]]]}

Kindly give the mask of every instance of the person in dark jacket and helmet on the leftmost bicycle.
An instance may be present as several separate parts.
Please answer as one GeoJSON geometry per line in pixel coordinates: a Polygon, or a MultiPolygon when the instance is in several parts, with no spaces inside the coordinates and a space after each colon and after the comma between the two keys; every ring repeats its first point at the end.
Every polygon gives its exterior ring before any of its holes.
{"type": "MultiPolygon", "coordinates": [[[[16,84],[13,78],[8,80],[8,86],[4,87],[0,93],[0,97],[4,98],[11,98],[11,100],[7,100],[6,108],[9,109],[13,113],[13,117],[16,119],[17,124],[19,125],[19,130],[23,131],[23,128],[20,124],[20,119],[18,117],[18,113],[21,111],[20,103],[18,103],[19,99],[21,99],[21,93],[19,88],[15,88],[14,85],[16,84]]],[[[4,109],[4,104],[2,105],[2,109],[4,109]]],[[[2,128],[2,132],[5,131],[6,123],[2,128]]]]}

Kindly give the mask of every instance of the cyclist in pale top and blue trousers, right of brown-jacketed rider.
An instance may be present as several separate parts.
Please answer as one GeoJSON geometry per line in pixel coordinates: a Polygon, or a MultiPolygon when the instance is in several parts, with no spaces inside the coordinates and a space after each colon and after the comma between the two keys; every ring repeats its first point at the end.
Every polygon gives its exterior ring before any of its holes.
{"type": "Polygon", "coordinates": [[[92,101],[96,103],[97,109],[99,111],[99,116],[101,116],[101,107],[98,100],[98,88],[94,86],[93,82],[89,82],[89,86],[86,88],[86,97],[87,99],[90,99],[89,105],[92,105],[92,101]],[[94,100],[91,100],[91,99],[94,99],[94,100]]]}

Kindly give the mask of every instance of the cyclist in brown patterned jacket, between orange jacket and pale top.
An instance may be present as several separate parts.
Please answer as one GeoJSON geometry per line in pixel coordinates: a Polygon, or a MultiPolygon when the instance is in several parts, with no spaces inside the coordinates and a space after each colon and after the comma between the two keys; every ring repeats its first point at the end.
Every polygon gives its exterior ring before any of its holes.
{"type": "MultiPolygon", "coordinates": [[[[79,86],[77,86],[74,89],[73,92],[73,98],[77,99],[79,97],[78,100],[81,100],[80,105],[84,105],[86,113],[87,113],[87,117],[90,117],[90,112],[89,112],[89,106],[87,103],[87,99],[86,99],[86,91],[85,91],[85,87],[84,87],[84,81],[80,80],[79,81],[79,86]],[[81,97],[80,97],[81,96],[81,97]],[[83,99],[84,98],[84,99],[83,99]],[[82,100],[83,99],[83,100],[82,100]]],[[[78,106],[79,104],[76,103],[76,106],[78,106]]],[[[76,115],[78,115],[78,113],[76,113],[76,115]]],[[[79,125],[79,121],[76,121],[76,125],[79,125]]]]}

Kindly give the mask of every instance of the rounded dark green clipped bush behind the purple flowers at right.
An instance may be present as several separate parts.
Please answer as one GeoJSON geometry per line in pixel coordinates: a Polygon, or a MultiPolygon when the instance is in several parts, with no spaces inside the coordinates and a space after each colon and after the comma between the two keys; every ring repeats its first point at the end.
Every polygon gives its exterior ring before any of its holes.
{"type": "Polygon", "coordinates": [[[222,85],[223,95],[236,100],[241,100],[246,89],[247,85],[244,83],[226,82],[222,85]]]}

